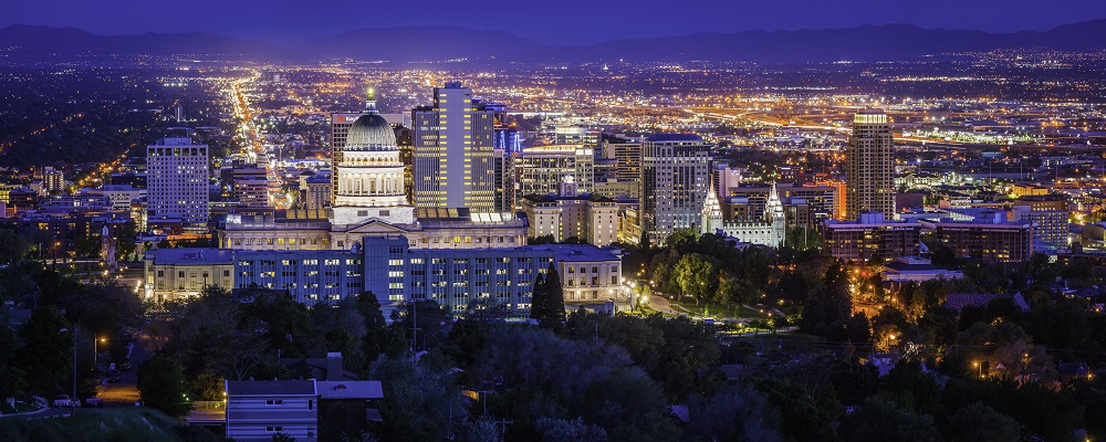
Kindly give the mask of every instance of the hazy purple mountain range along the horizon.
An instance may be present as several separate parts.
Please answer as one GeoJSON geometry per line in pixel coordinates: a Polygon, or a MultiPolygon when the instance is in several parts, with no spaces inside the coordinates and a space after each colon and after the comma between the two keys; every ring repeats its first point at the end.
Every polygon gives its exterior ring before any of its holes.
{"type": "Polygon", "coordinates": [[[1106,20],[1012,33],[885,24],[834,30],[703,32],[577,46],[550,46],[502,31],[457,27],[362,29],[293,48],[205,33],[96,35],[73,28],[21,24],[0,29],[0,54],[241,54],[263,59],[388,62],[906,61],[951,52],[1033,46],[1106,50],[1106,20]]]}

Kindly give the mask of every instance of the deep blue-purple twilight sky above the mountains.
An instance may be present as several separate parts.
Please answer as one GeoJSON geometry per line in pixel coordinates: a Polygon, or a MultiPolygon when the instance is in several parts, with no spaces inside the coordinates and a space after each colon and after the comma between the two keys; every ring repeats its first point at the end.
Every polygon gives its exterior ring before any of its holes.
{"type": "MultiPolygon", "coordinates": [[[[209,32],[294,44],[359,28],[451,24],[547,44],[752,29],[910,23],[993,32],[1106,19],[1104,0],[0,0],[0,28],[74,27],[100,34],[209,32]]],[[[1104,35],[1106,38],[1106,35],[1104,35]]]]}

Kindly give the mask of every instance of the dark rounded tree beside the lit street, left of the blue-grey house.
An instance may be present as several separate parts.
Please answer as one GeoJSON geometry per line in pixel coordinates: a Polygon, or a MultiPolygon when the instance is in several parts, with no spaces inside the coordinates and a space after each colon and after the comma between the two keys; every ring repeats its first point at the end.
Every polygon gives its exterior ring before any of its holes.
{"type": "Polygon", "coordinates": [[[182,418],[192,409],[180,364],[157,355],[138,367],[138,392],[146,407],[182,418]]]}

